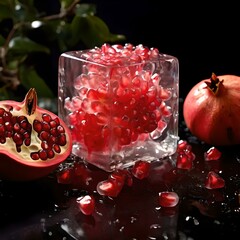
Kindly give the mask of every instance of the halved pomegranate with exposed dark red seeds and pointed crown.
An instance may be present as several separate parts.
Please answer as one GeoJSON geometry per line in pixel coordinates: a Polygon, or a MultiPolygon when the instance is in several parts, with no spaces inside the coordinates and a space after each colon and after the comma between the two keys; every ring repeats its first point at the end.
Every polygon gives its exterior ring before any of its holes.
{"type": "Polygon", "coordinates": [[[34,88],[22,102],[0,101],[0,178],[24,181],[43,177],[71,150],[69,129],[58,116],[37,106],[34,88]]]}

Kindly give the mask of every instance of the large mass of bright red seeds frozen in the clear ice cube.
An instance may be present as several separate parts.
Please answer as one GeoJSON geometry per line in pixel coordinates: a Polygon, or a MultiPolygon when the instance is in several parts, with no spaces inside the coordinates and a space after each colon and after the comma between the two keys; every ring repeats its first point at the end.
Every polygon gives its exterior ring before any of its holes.
{"type": "Polygon", "coordinates": [[[172,114],[165,103],[171,93],[149,64],[158,60],[158,50],[104,44],[81,57],[87,62],[75,79],[77,94],[65,100],[73,140],[91,153],[119,151],[149,133],[158,138],[164,117],[172,114]]]}

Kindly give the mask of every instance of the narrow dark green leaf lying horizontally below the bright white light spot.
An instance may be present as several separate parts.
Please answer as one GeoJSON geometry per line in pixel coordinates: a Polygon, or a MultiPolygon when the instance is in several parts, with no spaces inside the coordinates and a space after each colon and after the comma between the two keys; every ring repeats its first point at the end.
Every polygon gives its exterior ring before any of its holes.
{"type": "Polygon", "coordinates": [[[9,42],[9,50],[17,54],[29,54],[32,52],[45,52],[50,53],[50,50],[38,44],[27,37],[15,37],[9,42]]]}

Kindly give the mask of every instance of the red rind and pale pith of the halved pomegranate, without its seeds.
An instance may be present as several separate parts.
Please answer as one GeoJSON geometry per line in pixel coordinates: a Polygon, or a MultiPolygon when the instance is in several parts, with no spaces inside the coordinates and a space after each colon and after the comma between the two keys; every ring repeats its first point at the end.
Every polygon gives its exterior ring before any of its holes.
{"type": "MultiPolygon", "coordinates": [[[[33,91],[35,93],[35,91],[33,91]]],[[[70,155],[72,150],[72,137],[70,130],[54,113],[40,108],[37,105],[32,113],[26,111],[26,100],[16,102],[11,100],[0,101],[1,109],[9,109],[13,116],[26,116],[28,122],[33,126],[34,120],[42,121],[43,114],[50,116],[53,120],[58,119],[57,123],[64,128],[66,144],[61,146],[61,151],[55,153],[51,158],[45,160],[33,160],[30,157],[31,152],[37,152],[41,149],[41,140],[37,137],[37,132],[32,128],[31,143],[28,146],[22,144],[21,151],[17,152],[13,138],[7,138],[6,143],[0,144],[0,179],[10,181],[31,181],[47,176],[54,171],[70,155]]],[[[36,100],[36,99],[35,99],[36,100]]],[[[32,109],[30,107],[30,109],[32,109]]]]}

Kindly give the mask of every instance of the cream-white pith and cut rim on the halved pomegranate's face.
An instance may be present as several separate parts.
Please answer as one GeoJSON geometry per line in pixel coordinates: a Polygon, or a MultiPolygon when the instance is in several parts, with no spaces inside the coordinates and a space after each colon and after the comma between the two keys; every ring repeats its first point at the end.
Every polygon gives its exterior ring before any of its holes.
{"type": "MultiPolygon", "coordinates": [[[[25,99],[26,100],[26,99],[25,99]]],[[[21,151],[17,151],[16,143],[14,142],[12,137],[6,137],[6,142],[5,143],[0,143],[0,154],[5,154],[9,156],[10,158],[14,158],[15,160],[19,162],[31,162],[33,164],[38,164],[40,162],[50,162],[53,161],[61,161],[63,158],[66,158],[65,152],[70,153],[71,146],[71,141],[69,139],[69,135],[66,132],[65,125],[63,126],[62,120],[52,112],[49,112],[45,109],[36,107],[33,113],[30,115],[27,114],[26,112],[26,107],[25,107],[25,101],[23,102],[16,102],[16,101],[2,101],[0,102],[0,108],[5,109],[6,112],[10,112],[12,116],[25,116],[28,120],[28,122],[31,124],[31,143],[29,146],[26,146],[24,141],[23,144],[21,145],[21,151]],[[5,102],[3,104],[3,102],[5,102]],[[12,108],[13,107],[13,108],[12,108]],[[11,109],[11,110],[10,110],[11,109]],[[66,136],[66,144],[64,146],[60,146],[60,153],[55,152],[54,150],[54,157],[53,158],[47,158],[46,160],[38,159],[38,160],[33,160],[31,158],[31,153],[32,152],[38,152],[39,150],[42,149],[41,143],[42,140],[39,139],[38,133],[34,130],[33,128],[33,122],[34,120],[39,120],[40,122],[43,121],[42,116],[43,114],[48,114],[52,117],[52,120],[55,120],[56,118],[59,119],[59,125],[61,125],[65,129],[65,136],[66,136]],[[57,156],[57,159],[56,159],[57,156]]]]}

